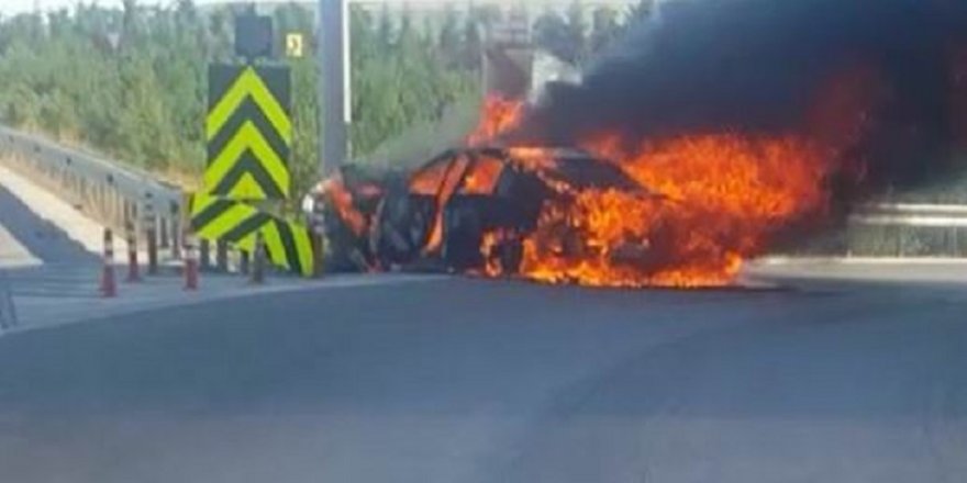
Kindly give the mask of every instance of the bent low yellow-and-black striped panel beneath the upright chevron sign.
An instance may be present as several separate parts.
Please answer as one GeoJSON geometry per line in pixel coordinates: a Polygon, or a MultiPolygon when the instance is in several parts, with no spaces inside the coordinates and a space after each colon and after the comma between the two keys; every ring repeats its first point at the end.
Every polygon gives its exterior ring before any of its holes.
{"type": "Polygon", "coordinates": [[[311,277],[315,268],[312,236],[304,225],[287,222],[246,203],[207,194],[191,196],[191,227],[209,240],[224,240],[248,252],[262,233],[268,258],[278,267],[311,277]]]}

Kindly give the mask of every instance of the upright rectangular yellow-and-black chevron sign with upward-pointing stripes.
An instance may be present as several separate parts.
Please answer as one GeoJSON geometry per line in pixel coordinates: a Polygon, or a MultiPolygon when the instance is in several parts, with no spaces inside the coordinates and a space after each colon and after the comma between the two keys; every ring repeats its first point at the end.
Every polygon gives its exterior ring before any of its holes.
{"type": "Polygon", "coordinates": [[[204,190],[233,200],[289,198],[288,67],[209,66],[204,190]]]}

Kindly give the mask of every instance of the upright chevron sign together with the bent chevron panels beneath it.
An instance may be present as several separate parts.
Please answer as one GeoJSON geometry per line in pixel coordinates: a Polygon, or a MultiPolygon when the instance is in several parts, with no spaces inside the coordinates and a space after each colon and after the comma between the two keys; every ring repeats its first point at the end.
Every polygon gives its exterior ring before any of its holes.
{"type": "Polygon", "coordinates": [[[274,265],[311,277],[311,233],[271,214],[291,195],[290,105],[288,67],[209,66],[208,164],[202,189],[190,202],[190,222],[200,238],[249,254],[260,236],[274,265]]]}

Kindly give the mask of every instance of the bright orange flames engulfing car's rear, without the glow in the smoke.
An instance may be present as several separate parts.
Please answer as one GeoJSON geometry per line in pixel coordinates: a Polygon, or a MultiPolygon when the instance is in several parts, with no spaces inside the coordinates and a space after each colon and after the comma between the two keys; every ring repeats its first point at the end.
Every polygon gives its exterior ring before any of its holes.
{"type": "MultiPolygon", "coordinates": [[[[586,148],[667,198],[592,189],[548,203],[523,240],[523,277],[596,287],[725,285],[778,228],[826,206],[822,157],[794,137],[681,137],[633,154],[615,146],[602,139],[586,148]]],[[[494,244],[493,236],[487,240],[494,244]]]]}

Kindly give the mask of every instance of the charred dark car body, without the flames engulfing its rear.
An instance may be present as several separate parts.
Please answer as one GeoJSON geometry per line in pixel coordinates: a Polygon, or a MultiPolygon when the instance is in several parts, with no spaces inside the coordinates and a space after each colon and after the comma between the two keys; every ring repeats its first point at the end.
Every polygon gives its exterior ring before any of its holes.
{"type": "MultiPolygon", "coordinates": [[[[581,150],[474,147],[447,150],[410,172],[344,166],[313,190],[304,210],[325,234],[331,271],[474,272],[491,265],[512,276],[544,206],[588,189],[662,201],[613,162],[581,150]]],[[[570,238],[562,250],[587,248],[570,238]]]]}

